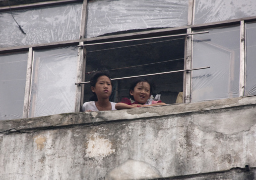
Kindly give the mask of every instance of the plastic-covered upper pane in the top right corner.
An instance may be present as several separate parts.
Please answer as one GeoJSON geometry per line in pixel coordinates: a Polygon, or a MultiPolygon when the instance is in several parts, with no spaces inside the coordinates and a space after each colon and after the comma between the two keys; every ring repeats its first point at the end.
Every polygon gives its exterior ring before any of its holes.
{"type": "Polygon", "coordinates": [[[194,24],[256,16],[254,0],[197,0],[194,24]]]}

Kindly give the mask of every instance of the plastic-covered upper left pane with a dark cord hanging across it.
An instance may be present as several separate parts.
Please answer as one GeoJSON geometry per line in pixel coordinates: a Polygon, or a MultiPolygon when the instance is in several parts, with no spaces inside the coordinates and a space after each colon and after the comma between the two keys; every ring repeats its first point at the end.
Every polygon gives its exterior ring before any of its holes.
{"type": "Polygon", "coordinates": [[[0,13],[0,48],[79,39],[82,4],[0,13]]]}

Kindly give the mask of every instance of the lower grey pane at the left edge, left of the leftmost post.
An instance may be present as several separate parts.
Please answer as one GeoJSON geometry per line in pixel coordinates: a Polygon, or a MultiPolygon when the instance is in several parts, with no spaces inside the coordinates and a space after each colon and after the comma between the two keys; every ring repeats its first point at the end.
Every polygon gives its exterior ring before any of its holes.
{"type": "Polygon", "coordinates": [[[0,120],[23,116],[27,60],[27,52],[0,55],[0,120]]]}

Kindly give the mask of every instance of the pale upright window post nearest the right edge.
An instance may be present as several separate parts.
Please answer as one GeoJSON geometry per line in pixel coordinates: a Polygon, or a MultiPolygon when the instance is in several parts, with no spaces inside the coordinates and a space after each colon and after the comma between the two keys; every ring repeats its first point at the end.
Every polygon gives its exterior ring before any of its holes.
{"type": "Polygon", "coordinates": [[[240,23],[240,79],[239,97],[244,96],[245,85],[245,26],[244,21],[240,23]]]}

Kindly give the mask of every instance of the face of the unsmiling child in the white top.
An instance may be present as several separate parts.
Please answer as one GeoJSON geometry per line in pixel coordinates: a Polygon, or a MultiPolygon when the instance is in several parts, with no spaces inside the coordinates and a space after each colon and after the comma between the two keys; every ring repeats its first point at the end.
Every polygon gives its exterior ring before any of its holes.
{"type": "Polygon", "coordinates": [[[91,89],[97,95],[98,100],[109,98],[112,92],[111,81],[107,76],[100,76],[95,87],[92,86],[91,89]]]}

